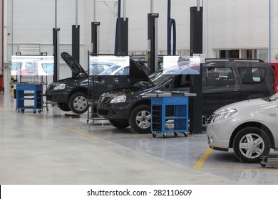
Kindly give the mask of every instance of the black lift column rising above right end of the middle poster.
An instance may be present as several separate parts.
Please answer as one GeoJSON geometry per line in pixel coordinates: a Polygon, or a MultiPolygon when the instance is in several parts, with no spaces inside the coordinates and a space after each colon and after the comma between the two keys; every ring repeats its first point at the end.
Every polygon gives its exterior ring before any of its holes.
{"type": "Polygon", "coordinates": [[[118,54],[128,55],[128,18],[118,20],[118,54]]]}

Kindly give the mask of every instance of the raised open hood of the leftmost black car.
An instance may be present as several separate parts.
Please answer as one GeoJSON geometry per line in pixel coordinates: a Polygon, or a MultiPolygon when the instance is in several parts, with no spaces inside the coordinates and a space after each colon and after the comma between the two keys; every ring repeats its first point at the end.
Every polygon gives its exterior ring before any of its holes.
{"type": "Polygon", "coordinates": [[[71,71],[73,72],[73,77],[78,75],[86,75],[86,71],[82,68],[82,66],[67,52],[61,53],[61,58],[66,62],[71,71]]]}

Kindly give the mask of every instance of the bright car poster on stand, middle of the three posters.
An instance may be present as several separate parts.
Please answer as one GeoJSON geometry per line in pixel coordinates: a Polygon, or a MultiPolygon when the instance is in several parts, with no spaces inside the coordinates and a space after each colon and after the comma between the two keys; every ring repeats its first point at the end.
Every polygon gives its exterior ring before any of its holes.
{"type": "Polygon", "coordinates": [[[129,75],[129,56],[90,56],[90,75],[129,75]]]}

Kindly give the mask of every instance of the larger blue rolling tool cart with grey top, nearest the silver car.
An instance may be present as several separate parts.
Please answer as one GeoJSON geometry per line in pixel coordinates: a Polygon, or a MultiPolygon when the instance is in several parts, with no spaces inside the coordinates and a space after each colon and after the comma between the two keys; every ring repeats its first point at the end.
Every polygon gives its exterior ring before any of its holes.
{"type": "Polygon", "coordinates": [[[151,131],[166,138],[168,133],[188,136],[188,97],[196,96],[188,92],[153,92],[145,94],[151,97],[151,131]]]}

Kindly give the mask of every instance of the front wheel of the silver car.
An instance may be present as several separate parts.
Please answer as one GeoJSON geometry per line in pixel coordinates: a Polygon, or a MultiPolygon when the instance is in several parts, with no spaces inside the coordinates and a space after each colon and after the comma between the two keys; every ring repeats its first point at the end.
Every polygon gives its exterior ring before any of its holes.
{"type": "Polygon", "coordinates": [[[269,154],[270,140],[264,130],[258,127],[246,127],[235,136],[233,149],[240,161],[257,163],[260,161],[260,156],[269,154]]]}

